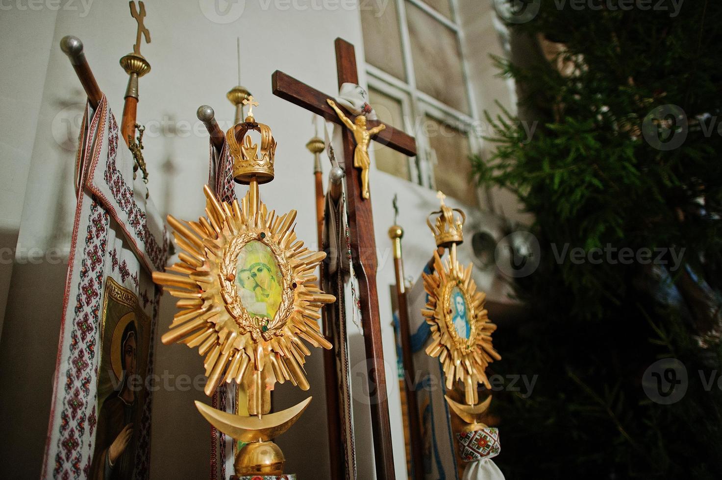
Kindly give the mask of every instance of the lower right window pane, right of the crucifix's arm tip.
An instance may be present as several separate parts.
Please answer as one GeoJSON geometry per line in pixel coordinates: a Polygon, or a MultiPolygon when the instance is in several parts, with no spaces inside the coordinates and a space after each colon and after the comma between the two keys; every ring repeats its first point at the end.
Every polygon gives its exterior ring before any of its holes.
{"type": "Polygon", "coordinates": [[[477,189],[471,180],[469,137],[463,132],[427,115],[424,124],[432,149],[437,190],[465,204],[477,206],[477,189]]]}

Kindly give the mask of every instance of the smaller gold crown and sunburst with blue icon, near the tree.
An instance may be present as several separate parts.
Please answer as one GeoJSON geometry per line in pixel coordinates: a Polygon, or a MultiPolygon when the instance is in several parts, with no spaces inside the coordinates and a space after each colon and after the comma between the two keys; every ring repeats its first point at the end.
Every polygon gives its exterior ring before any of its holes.
{"type": "Polygon", "coordinates": [[[489,321],[484,309],[486,294],[477,291],[477,284],[471,279],[472,265],[464,269],[456,258],[456,245],[463,241],[463,227],[466,217],[456,209],[454,214],[444,204],[445,196],[438,193],[440,214],[434,226],[427,220],[434,234],[436,245],[448,247],[448,258],[434,253],[433,274],[423,274],[424,287],[429,300],[422,315],[431,326],[431,342],[426,353],[438,357],[443,365],[447,390],[454,387],[456,381],[464,385],[466,404],[475,406],[479,402],[477,385],[491,388],[484,372],[487,365],[501,356],[492,346],[492,333],[496,330],[489,321]]]}

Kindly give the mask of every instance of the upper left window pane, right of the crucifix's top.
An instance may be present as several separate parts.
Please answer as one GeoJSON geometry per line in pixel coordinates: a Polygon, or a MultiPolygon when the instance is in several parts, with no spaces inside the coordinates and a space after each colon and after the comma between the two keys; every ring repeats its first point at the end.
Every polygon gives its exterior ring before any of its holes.
{"type": "Polygon", "coordinates": [[[406,80],[396,1],[362,1],[361,27],[366,61],[397,79],[406,80]]]}

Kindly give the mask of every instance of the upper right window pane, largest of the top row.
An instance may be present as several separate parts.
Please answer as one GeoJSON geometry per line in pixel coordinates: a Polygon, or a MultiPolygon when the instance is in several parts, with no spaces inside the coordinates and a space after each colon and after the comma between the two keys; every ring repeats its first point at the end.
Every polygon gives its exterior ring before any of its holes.
{"type": "Polygon", "coordinates": [[[406,1],[411,52],[419,90],[469,113],[456,32],[406,1]]]}

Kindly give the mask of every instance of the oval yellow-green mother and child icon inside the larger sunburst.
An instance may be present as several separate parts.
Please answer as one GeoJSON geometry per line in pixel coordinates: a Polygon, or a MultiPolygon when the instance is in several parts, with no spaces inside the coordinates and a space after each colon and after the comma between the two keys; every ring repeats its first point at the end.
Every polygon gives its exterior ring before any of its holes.
{"type": "Polygon", "coordinates": [[[281,304],[281,269],[271,249],[258,240],[243,245],[235,284],[248,315],[273,319],[281,304]]]}

